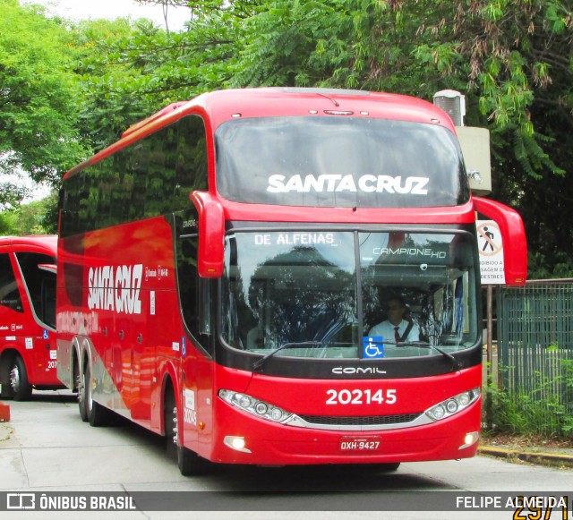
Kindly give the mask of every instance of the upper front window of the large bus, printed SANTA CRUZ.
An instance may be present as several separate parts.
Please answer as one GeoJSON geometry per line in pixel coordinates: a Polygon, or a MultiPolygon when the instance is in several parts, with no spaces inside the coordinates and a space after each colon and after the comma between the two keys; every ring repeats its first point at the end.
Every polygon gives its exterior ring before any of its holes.
{"type": "Polygon", "coordinates": [[[215,134],[227,200],[281,206],[430,208],[469,200],[458,141],[439,125],[359,117],[261,117],[215,134]]]}

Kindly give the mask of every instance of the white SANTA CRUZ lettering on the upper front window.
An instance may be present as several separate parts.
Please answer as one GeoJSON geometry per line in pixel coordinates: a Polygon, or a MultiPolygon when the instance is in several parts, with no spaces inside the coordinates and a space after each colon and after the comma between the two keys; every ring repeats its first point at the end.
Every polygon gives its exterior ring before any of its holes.
{"type": "Polygon", "coordinates": [[[427,195],[425,186],[428,177],[392,177],[390,175],[362,175],[356,180],[353,175],[270,175],[267,192],[388,192],[427,195]]]}

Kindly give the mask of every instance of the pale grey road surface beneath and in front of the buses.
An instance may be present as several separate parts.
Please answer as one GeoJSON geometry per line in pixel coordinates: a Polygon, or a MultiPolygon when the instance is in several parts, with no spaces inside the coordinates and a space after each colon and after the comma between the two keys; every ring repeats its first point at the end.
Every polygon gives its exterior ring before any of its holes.
{"type": "MultiPolygon", "coordinates": [[[[505,500],[505,492],[567,496],[565,517],[573,518],[571,470],[477,456],[403,464],[396,473],[364,466],[219,466],[200,477],[184,477],[167,459],[158,436],[124,420],[91,428],[81,422],[69,392],[35,393],[30,402],[6,403],[11,421],[0,423],[0,519],[535,518],[527,509],[484,507],[484,497],[501,494],[505,500]],[[54,501],[51,506],[64,506],[64,511],[14,507],[25,506],[31,498],[38,507],[40,500],[48,504],[48,499],[64,496],[89,501],[94,495],[133,497],[135,502],[119,506],[135,508],[66,511],[66,504],[54,501]]],[[[112,500],[112,505],[118,504],[112,500]]],[[[561,510],[548,515],[548,508],[539,518],[564,517],[561,510]]]]}

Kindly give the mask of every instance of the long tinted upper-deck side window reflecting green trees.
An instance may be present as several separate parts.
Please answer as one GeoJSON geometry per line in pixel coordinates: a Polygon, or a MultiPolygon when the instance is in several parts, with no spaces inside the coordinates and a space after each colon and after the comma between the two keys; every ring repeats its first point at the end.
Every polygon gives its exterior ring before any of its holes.
{"type": "Polygon", "coordinates": [[[201,117],[189,115],[67,179],[60,233],[186,209],[190,192],[207,189],[205,126],[201,117]]]}

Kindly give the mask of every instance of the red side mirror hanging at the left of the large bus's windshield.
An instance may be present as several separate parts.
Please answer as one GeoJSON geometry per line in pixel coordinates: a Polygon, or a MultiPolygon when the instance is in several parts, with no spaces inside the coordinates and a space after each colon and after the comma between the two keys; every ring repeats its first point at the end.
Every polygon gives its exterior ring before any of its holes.
{"type": "Polygon", "coordinates": [[[199,219],[197,270],[203,278],[223,275],[225,256],[225,212],[218,199],[209,192],[192,192],[190,199],[199,219]]]}

